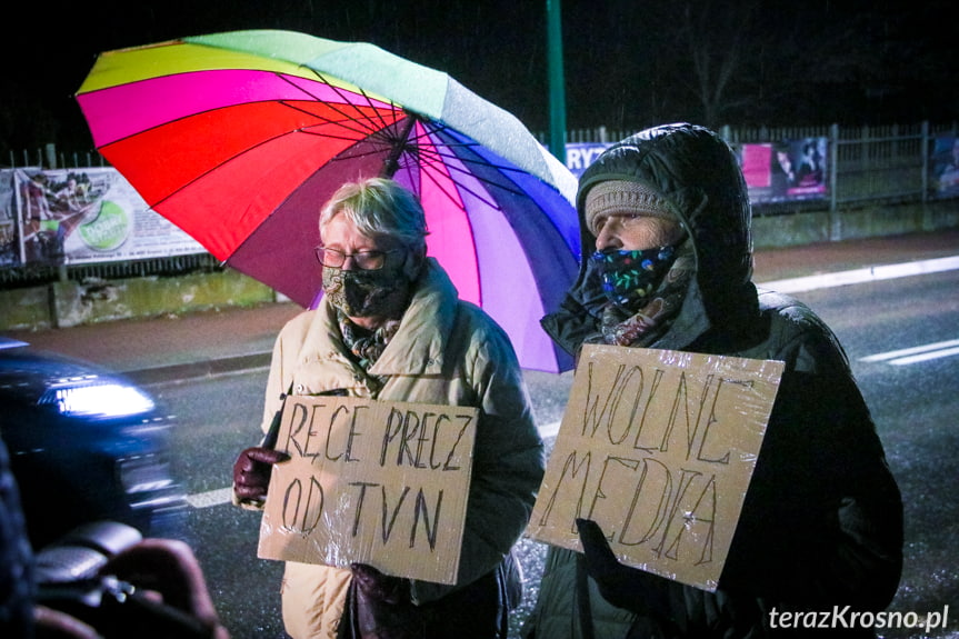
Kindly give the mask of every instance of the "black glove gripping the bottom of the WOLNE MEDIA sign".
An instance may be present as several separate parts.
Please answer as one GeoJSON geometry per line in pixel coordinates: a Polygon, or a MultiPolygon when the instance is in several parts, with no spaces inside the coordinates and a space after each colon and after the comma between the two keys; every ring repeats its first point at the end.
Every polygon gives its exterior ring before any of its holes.
{"type": "Polygon", "coordinates": [[[668,611],[673,582],[620,563],[596,521],[577,519],[576,527],[586,556],[586,571],[596,581],[602,598],[618,608],[672,626],[668,611]]]}

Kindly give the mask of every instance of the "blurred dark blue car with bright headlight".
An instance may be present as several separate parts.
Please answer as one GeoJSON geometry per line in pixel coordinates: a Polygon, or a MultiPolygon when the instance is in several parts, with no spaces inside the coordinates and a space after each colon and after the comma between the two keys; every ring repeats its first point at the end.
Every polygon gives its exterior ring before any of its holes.
{"type": "Polygon", "coordinates": [[[0,337],[0,436],[34,548],[100,520],[177,537],[186,496],[170,473],[172,425],[122,376],[0,337]]]}

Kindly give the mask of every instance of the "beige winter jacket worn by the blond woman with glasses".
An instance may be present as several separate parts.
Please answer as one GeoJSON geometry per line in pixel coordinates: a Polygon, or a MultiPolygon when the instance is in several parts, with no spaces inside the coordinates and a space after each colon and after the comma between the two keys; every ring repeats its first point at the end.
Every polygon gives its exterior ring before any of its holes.
{"type": "MultiPolygon", "coordinates": [[[[331,307],[290,320],[273,349],[263,429],[280,395],[346,390],[352,397],[480,409],[457,586],[412,582],[414,603],[443,597],[495,569],[519,539],[543,472],[542,441],[506,333],[430,259],[400,329],[369,375],[346,355],[331,307]]],[[[287,562],[283,622],[294,639],[334,637],[350,572],[287,562]]]]}

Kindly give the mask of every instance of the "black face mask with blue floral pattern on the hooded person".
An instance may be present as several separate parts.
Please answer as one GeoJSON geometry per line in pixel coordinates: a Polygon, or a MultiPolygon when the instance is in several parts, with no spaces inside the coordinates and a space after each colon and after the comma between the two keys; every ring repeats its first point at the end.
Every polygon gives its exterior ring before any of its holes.
{"type": "Polygon", "coordinates": [[[640,251],[607,249],[590,258],[599,269],[602,290],[615,304],[626,310],[642,308],[662,282],[676,260],[676,247],[640,251]]]}

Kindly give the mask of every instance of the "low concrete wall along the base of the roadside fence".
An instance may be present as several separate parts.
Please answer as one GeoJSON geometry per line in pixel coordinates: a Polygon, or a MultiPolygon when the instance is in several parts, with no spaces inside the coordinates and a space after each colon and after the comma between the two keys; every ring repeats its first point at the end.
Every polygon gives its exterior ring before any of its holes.
{"type": "MultiPolygon", "coordinates": [[[[893,236],[959,227],[959,200],[871,206],[832,214],[758,217],[757,249],[893,236]]],[[[0,290],[0,330],[83,323],[277,301],[272,289],[236,271],[137,278],[0,290]]]]}

